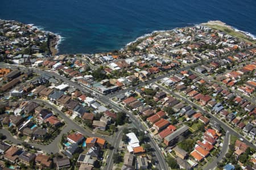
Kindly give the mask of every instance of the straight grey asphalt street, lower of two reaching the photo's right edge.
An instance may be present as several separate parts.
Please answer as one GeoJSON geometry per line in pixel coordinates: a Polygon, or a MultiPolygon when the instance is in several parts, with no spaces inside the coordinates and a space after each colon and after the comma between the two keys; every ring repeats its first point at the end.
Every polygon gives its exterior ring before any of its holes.
{"type": "Polygon", "coordinates": [[[204,113],[206,115],[209,115],[210,118],[212,118],[212,120],[218,122],[218,124],[221,125],[221,128],[224,129],[225,131],[229,131],[230,135],[235,135],[237,136],[238,138],[243,138],[243,142],[246,143],[246,145],[250,146],[250,147],[253,147],[256,149],[256,146],[254,146],[252,143],[250,143],[246,138],[244,137],[241,137],[240,134],[238,134],[235,130],[233,130],[230,126],[228,126],[225,122],[221,121],[219,118],[217,118],[216,116],[214,116],[214,114],[212,113],[209,113],[207,111],[205,111],[200,105],[197,105],[195,103],[193,103],[192,101],[188,100],[187,98],[179,95],[179,94],[176,94],[175,92],[169,90],[168,88],[166,87],[163,87],[162,85],[158,84],[159,88],[162,88],[163,91],[166,91],[168,92],[169,94],[171,94],[172,96],[176,97],[177,99],[181,99],[183,101],[185,101],[186,103],[192,105],[193,107],[197,108],[197,110],[199,110],[201,113],[204,113]]]}

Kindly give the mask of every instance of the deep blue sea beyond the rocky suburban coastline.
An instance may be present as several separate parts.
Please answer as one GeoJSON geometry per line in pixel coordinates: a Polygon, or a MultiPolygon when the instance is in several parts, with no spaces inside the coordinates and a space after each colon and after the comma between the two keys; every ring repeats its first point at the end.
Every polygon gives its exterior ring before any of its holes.
{"type": "Polygon", "coordinates": [[[96,53],[155,30],[208,20],[256,35],[256,0],[1,0],[0,19],[59,33],[61,54],[96,53]]]}

